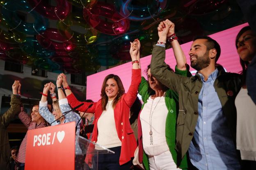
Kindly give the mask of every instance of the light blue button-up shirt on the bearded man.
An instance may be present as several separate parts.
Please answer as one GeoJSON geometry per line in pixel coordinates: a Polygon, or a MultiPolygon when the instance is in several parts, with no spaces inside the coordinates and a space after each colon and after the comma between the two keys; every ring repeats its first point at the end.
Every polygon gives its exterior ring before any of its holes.
{"type": "Polygon", "coordinates": [[[199,170],[240,170],[235,144],[214,88],[216,69],[199,93],[199,117],[189,147],[190,161],[199,170]]]}

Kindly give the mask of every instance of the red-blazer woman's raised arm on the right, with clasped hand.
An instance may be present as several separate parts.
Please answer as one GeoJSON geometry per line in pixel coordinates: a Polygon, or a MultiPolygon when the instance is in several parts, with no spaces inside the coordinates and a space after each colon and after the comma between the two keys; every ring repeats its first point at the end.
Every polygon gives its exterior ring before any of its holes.
{"type": "MultiPolygon", "coordinates": [[[[138,61],[137,57],[138,57],[139,47],[140,47],[140,43],[138,39],[136,39],[133,43],[131,43],[130,56],[132,61],[138,61]]],[[[134,101],[136,100],[139,83],[141,81],[141,69],[139,68],[139,61],[132,62],[132,64],[133,64],[132,81],[127,91],[127,94],[124,96],[124,101],[129,107],[131,107],[134,101]]]]}

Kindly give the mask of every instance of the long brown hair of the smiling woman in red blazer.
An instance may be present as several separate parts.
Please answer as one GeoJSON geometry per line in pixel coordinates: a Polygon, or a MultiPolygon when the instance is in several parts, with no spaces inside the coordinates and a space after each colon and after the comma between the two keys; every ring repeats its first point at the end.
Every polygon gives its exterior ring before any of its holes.
{"type": "Polygon", "coordinates": [[[125,90],[123,88],[123,83],[120,79],[120,77],[118,77],[118,75],[107,75],[103,81],[102,87],[101,87],[101,107],[102,110],[106,110],[106,106],[107,106],[107,94],[105,93],[105,84],[107,83],[108,79],[114,79],[117,82],[117,86],[118,86],[118,93],[117,93],[117,97],[114,99],[113,101],[113,105],[112,107],[114,108],[118,102],[118,100],[120,99],[120,97],[124,94],[125,90]]]}

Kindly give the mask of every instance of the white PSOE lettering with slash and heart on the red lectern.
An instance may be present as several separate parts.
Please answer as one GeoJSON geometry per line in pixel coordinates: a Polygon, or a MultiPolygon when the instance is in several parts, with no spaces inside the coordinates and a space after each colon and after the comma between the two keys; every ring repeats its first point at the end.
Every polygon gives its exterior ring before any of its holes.
{"type": "Polygon", "coordinates": [[[56,132],[54,132],[53,136],[51,133],[34,135],[33,147],[35,147],[36,145],[37,146],[53,145],[56,137],[59,143],[62,143],[65,137],[65,131],[58,131],[57,135],[56,135],[56,132]]]}

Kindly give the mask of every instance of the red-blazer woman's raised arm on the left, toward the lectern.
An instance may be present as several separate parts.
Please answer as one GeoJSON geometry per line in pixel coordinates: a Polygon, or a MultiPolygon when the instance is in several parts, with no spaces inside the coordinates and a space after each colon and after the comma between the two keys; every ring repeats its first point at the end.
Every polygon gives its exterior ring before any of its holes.
{"type": "MultiPolygon", "coordinates": [[[[72,93],[71,88],[69,87],[69,84],[66,80],[66,75],[64,75],[63,73],[61,73],[59,76],[62,76],[62,86],[65,89],[65,93],[66,93],[66,98],[68,99],[68,102],[70,104],[70,106],[72,108],[78,106],[79,104],[84,103],[84,105],[82,105],[81,107],[79,107],[77,110],[78,111],[85,111],[90,104],[93,104],[92,107],[90,107],[87,112],[88,113],[95,113],[96,110],[96,102],[80,102],[77,100],[77,98],[75,97],[75,95],[72,93]]],[[[58,89],[58,91],[60,91],[58,89]]]]}

